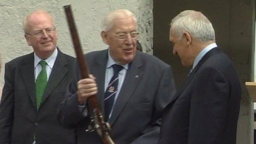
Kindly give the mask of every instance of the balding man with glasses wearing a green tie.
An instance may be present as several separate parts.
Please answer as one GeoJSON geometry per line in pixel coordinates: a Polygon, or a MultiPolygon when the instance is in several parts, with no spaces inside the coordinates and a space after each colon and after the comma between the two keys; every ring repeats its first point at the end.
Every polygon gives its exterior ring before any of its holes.
{"type": "Polygon", "coordinates": [[[23,30],[34,52],[5,65],[0,144],[75,144],[75,131],[57,122],[74,58],[56,47],[57,31],[47,11],[28,14],[23,30]]]}

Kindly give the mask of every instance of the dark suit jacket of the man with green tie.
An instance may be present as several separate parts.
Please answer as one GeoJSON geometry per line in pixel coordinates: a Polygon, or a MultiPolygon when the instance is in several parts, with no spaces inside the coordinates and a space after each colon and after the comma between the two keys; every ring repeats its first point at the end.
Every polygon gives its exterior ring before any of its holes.
{"type": "Polygon", "coordinates": [[[57,122],[57,107],[71,79],[74,58],[58,51],[39,111],[35,103],[34,54],[5,64],[0,104],[0,144],[74,144],[75,131],[57,122]]]}

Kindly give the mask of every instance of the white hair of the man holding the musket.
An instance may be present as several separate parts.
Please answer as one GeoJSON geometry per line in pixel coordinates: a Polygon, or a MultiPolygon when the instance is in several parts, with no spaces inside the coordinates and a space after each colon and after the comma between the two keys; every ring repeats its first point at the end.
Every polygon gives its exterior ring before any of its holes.
{"type": "Polygon", "coordinates": [[[113,22],[115,19],[124,18],[126,16],[132,16],[132,18],[134,19],[136,26],[137,26],[137,19],[135,18],[134,14],[131,11],[129,11],[127,9],[118,9],[118,10],[108,13],[107,16],[105,16],[105,18],[103,18],[102,30],[103,31],[110,30],[113,27],[113,22]]]}

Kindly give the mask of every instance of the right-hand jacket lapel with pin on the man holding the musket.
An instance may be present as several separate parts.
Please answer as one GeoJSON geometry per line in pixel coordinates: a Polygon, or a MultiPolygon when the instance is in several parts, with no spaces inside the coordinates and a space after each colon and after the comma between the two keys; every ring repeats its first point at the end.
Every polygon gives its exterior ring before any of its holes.
{"type": "MultiPolygon", "coordinates": [[[[138,53],[137,53],[138,55],[138,53]]],[[[134,89],[137,87],[139,79],[142,77],[142,70],[139,68],[142,66],[142,60],[139,57],[135,57],[134,61],[129,64],[129,69],[126,73],[123,85],[117,97],[117,101],[114,105],[112,116],[110,117],[109,123],[112,125],[117,119],[124,106],[128,102],[134,89]]]]}

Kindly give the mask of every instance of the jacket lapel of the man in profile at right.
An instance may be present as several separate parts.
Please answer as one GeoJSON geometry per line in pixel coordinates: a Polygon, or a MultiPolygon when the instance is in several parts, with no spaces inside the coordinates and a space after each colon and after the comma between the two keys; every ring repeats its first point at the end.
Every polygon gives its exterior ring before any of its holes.
{"type": "Polygon", "coordinates": [[[210,51],[208,51],[203,57],[202,59],[198,62],[197,66],[192,70],[192,72],[190,73],[189,77],[187,78],[187,80],[185,81],[183,87],[176,93],[176,95],[171,98],[170,103],[172,103],[176,98],[178,98],[178,96],[181,95],[181,93],[183,92],[183,90],[187,87],[187,85],[190,83],[190,81],[192,80],[192,78],[194,77],[195,73],[197,73],[198,69],[201,67],[201,65],[206,62],[206,60],[211,57],[212,55],[215,55],[217,53],[222,53],[222,50],[218,47],[211,49],[210,51]]]}

